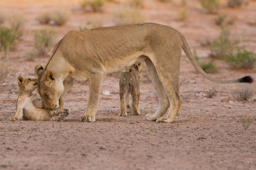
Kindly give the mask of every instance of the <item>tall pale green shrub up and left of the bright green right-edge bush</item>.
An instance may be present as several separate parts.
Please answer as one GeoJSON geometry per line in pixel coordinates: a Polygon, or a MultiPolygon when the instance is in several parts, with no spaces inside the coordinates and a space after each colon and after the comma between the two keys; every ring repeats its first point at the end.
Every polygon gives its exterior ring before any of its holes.
{"type": "Polygon", "coordinates": [[[224,58],[238,48],[239,41],[230,39],[231,29],[221,28],[221,35],[210,43],[210,56],[214,58],[224,58]]]}

